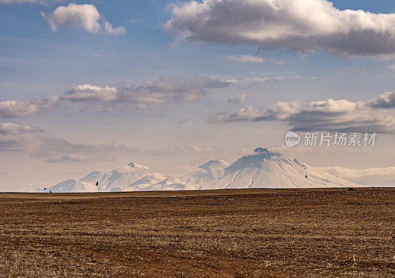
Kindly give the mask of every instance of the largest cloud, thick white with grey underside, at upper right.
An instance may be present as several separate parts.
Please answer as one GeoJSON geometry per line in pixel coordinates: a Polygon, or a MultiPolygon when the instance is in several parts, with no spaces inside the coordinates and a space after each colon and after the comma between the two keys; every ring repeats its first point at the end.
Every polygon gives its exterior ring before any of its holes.
{"type": "Polygon", "coordinates": [[[173,6],[167,30],[194,41],[344,56],[394,56],[395,14],[339,10],[328,0],[203,0],[173,6]]]}

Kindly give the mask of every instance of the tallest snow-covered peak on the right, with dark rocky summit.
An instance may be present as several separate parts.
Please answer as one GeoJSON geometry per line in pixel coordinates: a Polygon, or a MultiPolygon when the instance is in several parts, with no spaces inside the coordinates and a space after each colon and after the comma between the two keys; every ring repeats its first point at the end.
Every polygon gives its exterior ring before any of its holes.
{"type": "Polygon", "coordinates": [[[296,158],[257,148],[255,154],[237,159],[224,169],[224,175],[201,189],[224,188],[322,188],[357,187],[296,158]],[[307,176],[307,177],[306,177],[307,176]]]}

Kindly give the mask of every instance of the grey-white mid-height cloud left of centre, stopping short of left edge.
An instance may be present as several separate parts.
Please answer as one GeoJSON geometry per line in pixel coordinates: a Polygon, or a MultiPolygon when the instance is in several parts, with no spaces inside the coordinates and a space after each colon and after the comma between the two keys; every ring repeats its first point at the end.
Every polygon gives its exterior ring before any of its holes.
{"type": "Polygon", "coordinates": [[[226,84],[218,83],[214,79],[202,79],[197,82],[164,76],[146,80],[143,85],[131,85],[120,89],[90,84],[78,85],[61,95],[60,99],[91,104],[105,110],[119,104],[132,104],[135,108],[146,109],[169,101],[194,101],[205,95],[204,87],[224,85],[226,84]]]}

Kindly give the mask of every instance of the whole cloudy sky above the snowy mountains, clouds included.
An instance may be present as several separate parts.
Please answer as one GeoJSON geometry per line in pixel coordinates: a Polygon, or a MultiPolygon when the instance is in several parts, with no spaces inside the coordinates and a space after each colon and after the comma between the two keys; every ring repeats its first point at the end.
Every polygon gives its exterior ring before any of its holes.
{"type": "Polygon", "coordinates": [[[395,166],[394,77],[389,0],[0,0],[0,191],[256,147],[395,166]],[[309,132],[377,136],[303,146],[309,132]]]}

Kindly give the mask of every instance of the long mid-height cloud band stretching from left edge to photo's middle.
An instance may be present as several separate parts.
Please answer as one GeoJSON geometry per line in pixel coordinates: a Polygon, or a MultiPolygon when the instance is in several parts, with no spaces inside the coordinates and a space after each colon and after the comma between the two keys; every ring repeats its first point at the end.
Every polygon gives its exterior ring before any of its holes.
{"type": "Polygon", "coordinates": [[[53,109],[59,100],[81,103],[101,111],[112,111],[117,106],[148,109],[169,102],[195,101],[205,96],[206,89],[225,88],[232,83],[225,79],[197,75],[192,79],[162,76],[148,79],[142,85],[121,88],[82,84],[48,99],[0,101],[0,118],[37,116],[53,109]]]}

